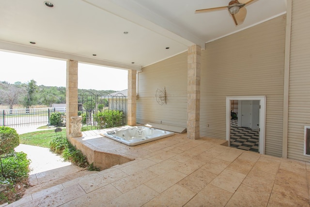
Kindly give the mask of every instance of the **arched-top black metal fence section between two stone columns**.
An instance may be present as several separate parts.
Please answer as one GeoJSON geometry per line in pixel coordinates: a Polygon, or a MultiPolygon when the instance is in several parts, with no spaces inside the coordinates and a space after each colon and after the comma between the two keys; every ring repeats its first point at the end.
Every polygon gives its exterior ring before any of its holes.
{"type": "Polygon", "coordinates": [[[107,92],[95,95],[85,91],[78,95],[78,115],[83,127],[100,129],[127,124],[127,96],[107,92]]]}

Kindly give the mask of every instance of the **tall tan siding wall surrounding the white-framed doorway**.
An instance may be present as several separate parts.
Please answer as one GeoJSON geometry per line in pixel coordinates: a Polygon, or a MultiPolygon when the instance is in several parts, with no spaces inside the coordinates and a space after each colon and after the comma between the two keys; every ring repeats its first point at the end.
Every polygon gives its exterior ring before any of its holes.
{"type": "Polygon", "coordinates": [[[201,136],[225,139],[226,96],[266,96],[265,154],[282,155],[285,16],[206,44],[201,136]]]}

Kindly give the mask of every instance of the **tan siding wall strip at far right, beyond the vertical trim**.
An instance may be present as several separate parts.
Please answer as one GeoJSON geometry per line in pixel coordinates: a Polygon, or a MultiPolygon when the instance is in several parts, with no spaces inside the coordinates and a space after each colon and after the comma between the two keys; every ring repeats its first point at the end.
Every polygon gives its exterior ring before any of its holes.
{"type": "Polygon", "coordinates": [[[293,0],[289,79],[288,158],[304,156],[304,126],[310,126],[310,1],[293,0]]]}

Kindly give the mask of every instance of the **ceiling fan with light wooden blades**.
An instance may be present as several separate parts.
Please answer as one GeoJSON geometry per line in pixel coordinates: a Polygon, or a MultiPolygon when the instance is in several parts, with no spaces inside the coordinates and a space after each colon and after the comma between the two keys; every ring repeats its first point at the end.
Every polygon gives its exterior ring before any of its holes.
{"type": "Polygon", "coordinates": [[[238,0],[231,0],[228,4],[228,6],[220,6],[215,8],[208,8],[208,9],[199,9],[196,10],[195,13],[204,13],[204,12],[211,12],[214,10],[221,10],[221,9],[228,9],[229,13],[233,17],[233,21],[235,25],[242,24],[244,19],[247,16],[247,9],[245,8],[246,5],[251,3],[254,0],[240,0],[241,3],[238,0]]]}

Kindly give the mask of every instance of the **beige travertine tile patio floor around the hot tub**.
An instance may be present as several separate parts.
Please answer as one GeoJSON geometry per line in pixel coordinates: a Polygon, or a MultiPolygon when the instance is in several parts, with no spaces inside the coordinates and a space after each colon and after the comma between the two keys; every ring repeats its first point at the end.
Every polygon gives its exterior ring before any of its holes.
{"type": "MultiPolygon", "coordinates": [[[[9,206],[309,207],[310,163],[188,140],[186,134],[126,146],[84,133],[89,144],[135,158],[34,192],[9,206]]],[[[89,133],[89,132],[88,132],[89,133]]]]}

